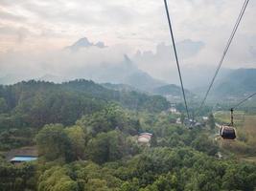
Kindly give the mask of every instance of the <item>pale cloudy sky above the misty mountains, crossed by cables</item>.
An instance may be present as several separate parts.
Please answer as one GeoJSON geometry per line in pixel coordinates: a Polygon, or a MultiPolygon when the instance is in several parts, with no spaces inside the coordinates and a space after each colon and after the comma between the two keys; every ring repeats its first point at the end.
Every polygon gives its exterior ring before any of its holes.
{"type": "MultiPolygon", "coordinates": [[[[168,1],[182,70],[217,66],[243,3],[168,1]]],[[[255,10],[249,2],[223,67],[256,68],[255,10]]],[[[170,45],[163,0],[0,0],[0,76],[64,75],[81,65],[118,64],[126,53],[139,69],[170,81],[170,45]],[[63,51],[82,37],[107,47],[63,51]]]]}

